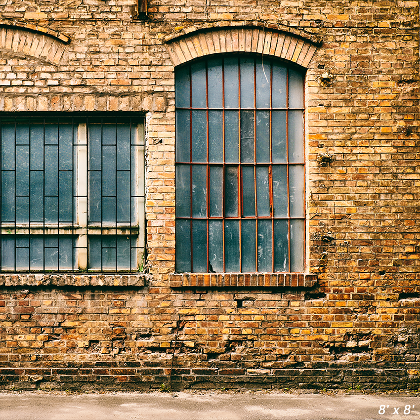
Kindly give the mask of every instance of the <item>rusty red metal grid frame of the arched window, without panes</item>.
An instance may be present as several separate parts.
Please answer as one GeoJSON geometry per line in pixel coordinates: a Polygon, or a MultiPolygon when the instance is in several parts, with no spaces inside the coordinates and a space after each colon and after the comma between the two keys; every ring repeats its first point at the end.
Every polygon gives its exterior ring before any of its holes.
{"type": "MultiPolygon", "coordinates": [[[[224,214],[224,212],[222,213],[221,217],[215,217],[217,219],[222,219],[222,223],[223,223],[223,255],[222,255],[223,271],[220,271],[220,270],[219,271],[217,271],[217,270],[214,271],[212,269],[211,265],[210,265],[210,258],[209,258],[209,248],[210,248],[210,246],[209,246],[209,220],[211,220],[213,217],[209,216],[209,195],[210,195],[209,168],[212,165],[218,165],[218,164],[214,164],[214,163],[209,162],[209,110],[211,110],[211,107],[209,107],[209,79],[208,79],[208,71],[209,70],[208,70],[208,63],[214,57],[215,58],[221,58],[223,63],[224,63],[225,58],[230,58],[230,57],[237,57],[238,63],[240,63],[241,58],[251,58],[251,59],[254,60],[254,69],[255,69],[256,68],[255,67],[256,63],[258,62],[258,60],[260,59],[261,56],[260,55],[256,56],[255,54],[247,54],[247,53],[238,53],[238,54],[229,54],[229,55],[227,55],[227,54],[215,55],[215,56],[212,56],[212,57],[201,57],[198,60],[194,60],[194,61],[184,63],[184,64],[182,64],[182,65],[180,65],[176,68],[176,71],[178,71],[178,72],[179,72],[180,69],[182,70],[182,69],[189,68],[190,104],[189,104],[189,107],[178,106],[179,104],[176,102],[176,99],[177,99],[176,98],[176,94],[177,94],[176,92],[178,91],[179,86],[177,85],[177,79],[176,79],[177,76],[175,75],[175,112],[177,113],[178,111],[183,111],[183,110],[185,110],[185,111],[189,110],[190,111],[190,117],[189,117],[190,118],[190,122],[189,122],[189,124],[190,124],[190,140],[189,141],[190,141],[190,148],[191,148],[192,144],[193,144],[193,140],[192,140],[193,139],[193,134],[192,134],[193,123],[192,123],[192,120],[191,120],[192,119],[192,113],[193,113],[194,109],[198,109],[198,108],[193,107],[193,105],[192,105],[192,97],[193,97],[194,94],[193,94],[193,80],[192,80],[191,68],[192,68],[192,66],[194,66],[195,63],[200,63],[200,62],[205,63],[205,68],[206,68],[206,70],[205,70],[206,71],[206,105],[205,105],[204,109],[207,111],[207,133],[206,133],[206,135],[207,135],[207,158],[206,158],[206,162],[193,162],[193,160],[192,160],[192,150],[190,150],[190,161],[189,162],[183,162],[182,160],[179,160],[178,157],[175,157],[175,184],[177,183],[177,168],[179,168],[182,165],[189,165],[190,168],[191,168],[191,179],[190,179],[190,183],[191,183],[191,195],[190,195],[191,215],[189,217],[182,217],[182,216],[179,216],[179,214],[175,215],[175,219],[176,219],[177,222],[181,219],[188,219],[191,222],[191,225],[190,225],[191,226],[190,227],[190,230],[191,230],[190,270],[180,269],[180,267],[179,267],[178,260],[177,260],[177,253],[178,253],[179,248],[180,248],[180,242],[182,242],[182,241],[179,240],[179,235],[177,235],[178,236],[177,239],[176,239],[177,245],[175,246],[176,247],[176,249],[175,249],[175,271],[178,272],[178,273],[188,273],[188,272],[190,272],[190,273],[200,273],[200,272],[203,272],[203,273],[205,273],[205,272],[207,272],[207,273],[214,273],[214,272],[216,272],[216,273],[235,273],[235,272],[238,272],[238,273],[247,273],[247,272],[250,272],[250,273],[263,273],[263,272],[264,273],[266,273],[266,272],[303,273],[306,270],[306,232],[307,232],[307,226],[306,226],[306,222],[307,222],[306,221],[306,204],[307,204],[307,200],[306,200],[306,170],[307,170],[307,165],[306,165],[306,150],[305,150],[305,124],[306,124],[306,118],[305,118],[306,117],[306,115],[305,115],[305,69],[301,68],[300,66],[296,66],[293,63],[278,60],[274,57],[267,57],[266,60],[269,63],[269,66],[272,66],[272,63],[277,63],[281,67],[286,68],[286,70],[287,70],[287,80],[286,80],[286,85],[287,85],[286,100],[287,100],[287,103],[286,103],[286,107],[285,107],[287,127],[289,128],[289,124],[290,124],[289,123],[289,111],[298,110],[298,111],[301,111],[301,113],[302,113],[302,131],[301,131],[301,135],[302,135],[302,137],[301,137],[302,159],[301,159],[301,162],[297,163],[297,162],[289,161],[289,138],[290,138],[289,133],[287,133],[287,136],[286,136],[287,137],[286,148],[287,148],[287,154],[288,154],[287,163],[285,165],[287,167],[287,185],[286,185],[286,188],[288,190],[288,213],[287,213],[287,217],[286,217],[286,219],[288,220],[288,263],[287,264],[288,264],[289,269],[281,270],[281,271],[274,269],[275,268],[275,264],[274,264],[274,242],[275,242],[275,239],[274,239],[274,225],[272,224],[272,229],[271,229],[271,232],[272,232],[271,247],[272,247],[272,250],[273,250],[272,251],[272,265],[271,265],[272,269],[271,270],[258,270],[258,255],[257,255],[257,253],[258,253],[258,245],[257,245],[258,236],[257,236],[257,233],[256,233],[256,237],[255,237],[255,254],[256,254],[255,255],[255,259],[256,259],[255,268],[256,269],[255,269],[255,271],[248,271],[248,270],[244,271],[243,270],[243,267],[242,267],[243,261],[242,261],[242,254],[241,254],[241,250],[242,250],[242,244],[241,244],[242,228],[240,227],[239,228],[239,241],[240,241],[239,242],[239,252],[240,252],[239,268],[240,269],[239,270],[233,270],[233,271],[232,270],[227,271],[226,270],[226,254],[225,254],[225,246],[224,246],[224,237],[225,237],[224,225],[225,225],[225,220],[228,220],[230,217],[227,217],[224,214]],[[301,104],[300,108],[293,108],[293,107],[289,106],[290,105],[289,104],[289,71],[290,70],[300,73],[301,78],[302,78],[302,90],[301,90],[302,104],[301,104]],[[207,220],[207,256],[208,256],[208,258],[207,258],[207,260],[208,260],[207,270],[194,270],[193,252],[194,252],[195,247],[193,246],[192,230],[193,230],[193,220],[198,219],[198,218],[194,217],[193,214],[192,214],[192,206],[193,206],[192,168],[195,165],[206,165],[207,166],[207,181],[206,181],[207,182],[207,198],[206,198],[207,213],[206,213],[206,216],[202,218],[202,219],[207,220]],[[303,213],[299,217],[293,217],[291,215],[291,210],[290,210],[291,200],[290,200],[290,191],[289,191],[290,190],[290,181],[289,181],[289,171],[290,170],[289,169],[294,165],[301,166],[301,168],[302,168],[302,178],[303,178],[303,179],[301,179],[302,189],[300,191],[300,194],[301,194],[301,197],[302,197],[302,203],[301,204],[302,204],[303,213]],[[301,224],[303,226],[303,228],[302,228],[303,233],[301,235],[302,236],[302,240],[301,240],[301,258],[302,258],[302,261],[301,261],[299,269],[292,269],[291,268],[291,265],[292,265],[292,262],[291,262],[291,252],[292,252],[291,248],[293,247],[293,243],[292,243],[293,240],[291,239],[291,220],[294,220],[294,219],[300,220],[301,224]]],[[[223,66],[224,66],[224,64],[223,64],[223,66]]],[[[240,64],[239,64],[239,66],[240,66],[240,64]]],[[[260,108],[258,108],[256,106],[256,87],[257,87],[256,83],[257,82],[256,82],[256,76],[255,76],[255,73],[254,73],[254,78],[253,78],[253,82],[254,82],[254,86],[253,86],[253,88],[254,88],[254,93],[253,93],[254,105],[253,105],[253,108],[252,108],[253,115],[254,115],[254,120],[253,120],[253,123],[254,123],[254,142],[253,142],[254,156],[253,156],[253,162],[252,163],[244,163],[244,162],[241,162],[241,123],[240,123],[240,121],[241,121],[241,113],[243,111],[248,111],[249,108],[242,107],[242,104],[241,104],[241,70],[240,69],[238,71],[238,77],[239,77],[239,82],[238,82],[239,83],[239,86],[238,86],[238,88],[239,88],[238,107],[237,108],[229,108],[229,110],[235,110],[235,111],[238,111],[238,113],[239,113],[239,117],[238,117],[239,118],[239,138],[238,138],[239,145],[238,145],[238,149],[239,149],[239,156],[240,156],[239,162],[230,164],[230,163],[226,162],[225,158],[224,158],[224,153],[225,153],[225,129],[224,129],[225,118],[224,118],[224,115],[225,115],[225,111],[228,109],[228,108],[225,107],[225,104],[224,104],[224,98],[225,98],[225,94],[224,94],[224,90],[225,90],[224,70],[223,70],[223,82],[222,82],[222,86],[223,86],[223,92],[222,92],[222,96],[223,96],[223,105],[222,105],[222,110],[223,110],[223,123],[222,123],[223,124],[223,144],[222,144],[222,148],[223,148],[223,173],[224,173],[225,168],[228,167],[228,166],[236,166],[237,167],[237,172],[238,172],[238,176],[237,176],[237,180],[238,180],[238,189],[237,189],[237,191],[238,191],[237,192],[237,194],[238,194],[238,196],[237,196],[237,199],[238,199],[237,200],[238,201],[238,204],[237,204],[237,206],[238,206],[238,217],[237,217],[237,219],[240,220],[239,223],[241,224],[241,220],[244,220],[244,219],[247,218],[247,217],[244,217],[244,215],[243,215],[243,198],[244,198],[243,191],[242,191],[242,182],[243,182],[242,172],[243,172],[243,168],[245,168],[247,166],[253,166],[254,167],[254,174],[255,174],[255,170],[258,167],[258,163],[256,162],[256,149],[255,149],[256,148],[255,124],[256,124],[256,113],[260,108]]],[[[272,154],[271,154],[271,147],[272,147],[271,146],[272,145],[271,118],[272,118],[272,111],[274,110],[274,108],[272,107],[273,72],[271,71],[271,67],[270,67],[270,76],[269,77],[270,77],[270,82],[269,82],[270,83],[270,104],[269,104],[269,113],[270,113],[270,140],[269,140],[269,143],[270,143],[270,162],[269,162],[269,176],[271,177],[272,176],[272,168],[273,168],[273,159],[272,159],[272,154]]],[[[178,120],[176,120],[176,124],[179,124],[178,120]]],[[[176,133],[176,139],[175,139],[175,143],[176,143],[175,150],[176,151],[178,150],[178,145],[177,145],[178,140],[179,140],[178,139],[178,133],[176,133]]],[[[263,165],[263,164],[261,164],[261,165],[263,165]]],[[[275,165],[277,165],[277,164],[275,164],[275,165]]],[[[222,182],[224,184],[224,180],[222,182]]],[[[255,189],[256,189],[256,182],[255,181],[254,181],[254,186],[255,186],[255,189]]],[[[273,184],[272,184],[272,179],[271,179],[270,186],[269,186],[269,188],[270,188],[270,216],[268,217],[268,219],[271,219],[273,221],[275,219],[275,217],[273,215],[273,210],[272,210],[272,206],[273,206],[273,203],[272,203],[272,199],[273,199],[272,186],[273,186],[273,184]]],[[[224,194],[224,191],[225,191],[225,187],[223,187],[223,194],[224,194]]],[[[175,195],[177,195],[177,193],[179,194],[179,191],[178,191],[177,188],[175,188],[175,195]]],[[[178,204],[178,201],[179,201],[179,199],[177,199],[177,197],[175,197],[175,204],[176,205],[178,204]]],[[[223,201],[225,201],[225,199],[223,199],[223,201]]],[[[224,203],[223,203],[223,205],[224,205],[224,203]]],[[[256,192],[255,192],[255,207],[256,207],[256,192]]],[[[256,220],[256,222],[255,222],[256,229],[258,229],[258,227],[257,227],[258,221],[263,220],[265,217],[258,216],[257,213],[255,213],[255,216],[252,217],[252,218],[256,220]]],[[[179,224],[179,222],[177,223],[177,226],[176,226],[176,233],[179,230],[178,224],[179,224]]],[[[181,244],[181,246],[183,246],[183,244],[181,244]]]]}

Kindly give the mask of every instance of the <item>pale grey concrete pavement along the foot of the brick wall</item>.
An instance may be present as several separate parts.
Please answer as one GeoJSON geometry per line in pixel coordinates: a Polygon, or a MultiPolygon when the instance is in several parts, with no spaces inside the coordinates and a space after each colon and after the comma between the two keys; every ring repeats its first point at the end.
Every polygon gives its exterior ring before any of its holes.
{"type": "Polygon", "coordinates": [[[420,419],[420,393],[0,393],[1,420],[420,419]]]}

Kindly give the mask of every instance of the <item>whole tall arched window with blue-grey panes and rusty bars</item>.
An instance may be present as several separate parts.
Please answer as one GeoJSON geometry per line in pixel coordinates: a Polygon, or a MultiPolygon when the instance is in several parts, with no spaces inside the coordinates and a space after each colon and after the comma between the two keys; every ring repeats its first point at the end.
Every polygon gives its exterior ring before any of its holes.
{"type": "Polygon", "coordinates": [[[303,272],[304,74],[261,56],[175,73],[177,272],[303,272]]]}

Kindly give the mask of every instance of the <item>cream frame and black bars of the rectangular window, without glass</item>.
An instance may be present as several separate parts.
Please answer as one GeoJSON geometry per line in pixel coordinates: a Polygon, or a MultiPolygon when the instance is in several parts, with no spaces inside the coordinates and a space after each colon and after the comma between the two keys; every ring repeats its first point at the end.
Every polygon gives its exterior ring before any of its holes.
{"type": "MultiPolygon", "coordinates": [[[[10,124],[10,120],[14,120],[15,127],[21,122],[20,118],[26,118],[29,121],[29,126],[31,124],[42,124],[44,127],[44,137],[43,137],[43,148],[45,148],[45,126],[46,124],[54,124],[51,122],[46,123],[45,120],[56,119],[57,125],[59,124],[71,124],[73,127],[73,138],[72,138],[72,222],[62,222],[59,219],[57,222],[46,222],[45,213],[43,215],[43,221],[34,222],[31,221],[31,216],[29,215],[29,220],[27,223],[17,223],[16,221],[16,197],[14,195],[15,203],[15,220],[14,222],[3,222],[0,219],[0,243],[2,238],[10,237],[13,235],[15,238],[14,248],[14,267],[4,268],[1,264],[2,262],[2,250],[0,246],[0,273],[141,273],[144,272],[145,267],[145,257],[146,257],[146,246],[145,246],[145,119],[144,115],[139,115],[138,113],[54,113],[54,112],[20,112],[20,113],[0,113],[0,122],[1,120],[7,119],[7,124],[10,124]],[[31,119],[33,121],[31,122],[31,119]],[[43,119],[43,122],[41,123],[43,119]],[[111,119],[111,122],[109,121],[111,119]],[[134,185],[131,185],[130,182],[130,191],[134,187],[134,194],[130,193],[129,196],[129,209],[130,219],[132,217],[132,202],[134,200],[135,210],[134,210],[134,221],[129,223],[121,222],[89,222],[88,216],[88,202],[89,202],[89,145],[88,145],[88,126],[90,125],[101,125],[101,130],[106,124],[112,124],[118,126],[118,124],[124,124],[124,120],[130,121],[130,133],[131,129],[134,130],[135,138],[134,141],[131,140],[130,134],[130,162],[134,161],[134,168],[129,168],[130,179],[131,173],[134,172],[134,185]],[[132,124],[131,124],[132,122],[132,124]],[[76,131],[76,135],[75,135],[76,131]],[[134,156],[131,157],[131,149],[136,149],[134,156]],[[28,267],[21,268],[17,265],[16,259],[16,239],[18,238],[28,238],[29,244],[31,237],[35,235],[42,236],[43,238],[43,267],[42,268],[31,268],[31,245],[28,246],[29,257],[28,257],[28,267]],[[45,238],[51,237],[52,235],[60,237],[60,235],[67,235],[72,237],[73,246],[72,246],[72,255],[70,258],[72,260],[72,268],[60,268],[60,263],[57,263],[56,268],[45,267],[45,238]],[[101,250],[103,252],[103,238],[110,238],[111,235],[122,236],[122,235],[136,235],[135,247],[132,247],[132,239],[130,238],[130,266],[131,268],[118,268],[117,267],[117,256],[116,256],[116,266],[115,267],[104,267],[103,256],[101,255],[101,267],[90,268],[89,267],[89,236],[100,236],[101,237],[101,250]],[[132,250],[135,250],[135,259],[134,264],[131,263],[131,253],[132,250]]],[[[5,123],[3,123],[5,124],[5,123]]],[[[1,128],[1,124],[0,124],[1,128]]],[[[2,131],[0,129],[0,145],[2,144],[3,139],[1,138],[2,131]]],[[[14,147],[16,149],[16,128],[15,128],[15,138],[14,138],[14,147]]],[[[101,140],[102,141],[102,140],[101,140]]],[[[117,141],[117,140],[116,140],[117,141]]],[[[101,153],[104,144],[101,143],[101,153]]],[[[29,140],[28,143],[29,149],[31,148],[31,143],[29,140]]],[[[117,147],[117,143],[116,143],[117,147]]],[[[1,149],[1,146],[0,146],[1,149]]],[[[59,153],[59,152],[58,152],[59,153]]],[[[15,156],[15,167],[16,167],[16,156],[15,156]]],[[[58,159],[58,158],[57,158],[58,159]]],[[[103,158],[101,158],[103,159],[103,158]]],[[[44,151],[44,161],[45,161],[45,151],[44,151]]],[[[2,188],[2,154],[0,154],[0,194],[2,188]]],[[[57,171],[59,162],[57,161],[57,171]]],[[[31,172],[32,169],[29,169],[31,172]]],[[[101,168],[101,171],[103,168],[101,168]]],[[[16,171],[16,168],[14,169],[16,171]]],[[[44,187],[43,187],[43,206],[45,206],[45,165],[43,164],[43,177],[44,177],[44,187]]],[[[117,173],[117,168],[116,168],[117,173]]],[[[117,176],[117,175],[116,175],[117,176]]],[[[132,181],[132,179],[131,179],[132,181]]],[[[116,181],[117,182],[117,181],[116,181]]],[[[15,174],[15,187],[17,185],[17,176],[15,174]]],[[[57,187],[59,188],[59,187],[57,187]]],[[[101,186],[102,188],[102,186],[101,186]]],[[[104,195],[101,193],[101,201],[104,198],[104,195]]],[[[115,193],[115,198],[117,200],[117,192],[115,193]]],[[[57,195],[57,200],[59,200],[57,195]]],[[[29,199],[28,209],[31,211],[31,201],[29,199]]],[[[117,211],[117,210],[116,210],[117,211]]],[[[1,214],[1,209],[0,209],[1,214]]],[[[59,216],[58,216],[59,217],[59,216]]],[[[116,216],[117,217],[117,216],[116,216]]],[[[116,239],[117,240],[117,239],[116,239]]],[[[58,239],[59,241],[59,239],[58,239]]],[[[59,242],[58,242],[59,243],[59,242]]],[[[58,245],[59,247],[59,245],[58,245]]],[[[117,249],[116,251],[117,252],[117,249]]],[[[57,260],[59,261],[59,259],[57,260]]]]}

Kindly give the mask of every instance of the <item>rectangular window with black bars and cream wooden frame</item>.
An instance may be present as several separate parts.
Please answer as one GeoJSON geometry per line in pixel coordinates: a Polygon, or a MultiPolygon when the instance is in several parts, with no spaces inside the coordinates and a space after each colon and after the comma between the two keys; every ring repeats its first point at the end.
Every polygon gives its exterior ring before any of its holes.
{"type": "Polygon", "coordinates": [[[142,271],[138,117],[0,114],[0,271],[142,271]]]}

